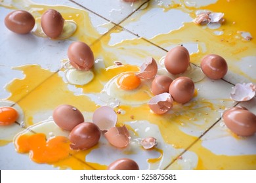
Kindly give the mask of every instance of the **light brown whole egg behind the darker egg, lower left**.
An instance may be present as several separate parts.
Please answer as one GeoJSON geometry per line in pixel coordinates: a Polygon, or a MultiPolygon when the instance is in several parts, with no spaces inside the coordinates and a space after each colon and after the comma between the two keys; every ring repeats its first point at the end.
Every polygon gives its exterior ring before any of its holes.
{"type": "Polygon", "coordinates": [[[72,105],[59,105],[53,111],[53,120],[61,129],[72,129],[84,122],[83,114],[72,105]]]}

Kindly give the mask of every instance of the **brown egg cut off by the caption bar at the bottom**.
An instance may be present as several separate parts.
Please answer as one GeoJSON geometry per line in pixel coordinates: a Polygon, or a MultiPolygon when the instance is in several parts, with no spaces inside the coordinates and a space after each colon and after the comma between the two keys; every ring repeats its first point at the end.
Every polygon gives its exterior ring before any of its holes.
{"type": "Polygon", "coordinates": [[[132,159],[121,158],[108,165],[108,170],[139,170],[139,165],[132,159]]]}

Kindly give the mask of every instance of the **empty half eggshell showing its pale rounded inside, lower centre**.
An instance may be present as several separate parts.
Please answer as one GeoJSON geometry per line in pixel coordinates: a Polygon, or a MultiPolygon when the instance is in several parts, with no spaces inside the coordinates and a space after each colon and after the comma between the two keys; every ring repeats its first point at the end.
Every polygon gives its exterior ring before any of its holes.
{"type": "Polygon", "coordinates": [[[102,106],[93,112],[93,123],[96,124],[100,130],[109,130],[116,126],[117,114],[112,107],[102,106]]]}

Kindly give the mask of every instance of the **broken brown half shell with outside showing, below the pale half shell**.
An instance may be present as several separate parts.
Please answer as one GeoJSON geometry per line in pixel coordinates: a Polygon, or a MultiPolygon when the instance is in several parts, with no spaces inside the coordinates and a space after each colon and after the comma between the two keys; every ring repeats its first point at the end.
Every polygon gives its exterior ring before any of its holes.
{"type": "Polygon", "coordinates": [[[111,127],[104,136],[110,144],[117,148],[125,148],[131,139],[129,131],[125,125],[121,127],[111,127]]]}

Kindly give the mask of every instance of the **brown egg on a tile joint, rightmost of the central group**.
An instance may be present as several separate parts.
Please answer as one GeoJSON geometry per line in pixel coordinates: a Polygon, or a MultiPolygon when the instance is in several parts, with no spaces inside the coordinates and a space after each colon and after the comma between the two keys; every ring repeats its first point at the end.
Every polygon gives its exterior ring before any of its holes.
{"type": "Polygon", "coordinates": [[[209,54],[202,58],[201,69],[208,78],[219,80],[228,72],[228,64],[221,56],[209,54]]]}

